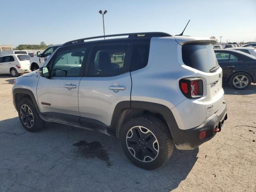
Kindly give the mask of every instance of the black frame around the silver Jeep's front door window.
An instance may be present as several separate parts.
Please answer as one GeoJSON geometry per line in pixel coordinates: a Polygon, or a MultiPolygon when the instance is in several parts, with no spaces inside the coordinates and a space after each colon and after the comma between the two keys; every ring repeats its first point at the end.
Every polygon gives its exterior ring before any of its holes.
{"type": "Polygon", "coordinates": [[[74,47],[74,48],[68,47],[65,49],[58,50],[47,64],[47,66],[50,67],[50,72],[49,72],[50,77],[82,77],[83,73],[84,73],[85,63],[86,63],[87,56],[88,56],[88,50],[89,50],[89,46],[80,46],[80,47],[74,47]],[[60,75],[52,76],[52,68],[53,68],[53,64],[55,62],[56,56],[59,54],[69,53],[69,52],[76,51],[76,50],[84,50],[85,51],[79,75],[78,76],[77,75],[76,76],[60,76],[60,75]]]}

